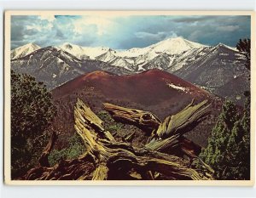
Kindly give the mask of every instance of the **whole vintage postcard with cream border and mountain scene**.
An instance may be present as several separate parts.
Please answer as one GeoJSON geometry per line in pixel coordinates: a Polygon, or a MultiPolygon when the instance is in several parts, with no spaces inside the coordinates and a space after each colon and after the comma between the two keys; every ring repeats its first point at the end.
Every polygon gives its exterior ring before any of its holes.
{"type": "Polygon", "coordinates": [[[6,11],[4,177],[255,180],[255,13],[6,11]]]}

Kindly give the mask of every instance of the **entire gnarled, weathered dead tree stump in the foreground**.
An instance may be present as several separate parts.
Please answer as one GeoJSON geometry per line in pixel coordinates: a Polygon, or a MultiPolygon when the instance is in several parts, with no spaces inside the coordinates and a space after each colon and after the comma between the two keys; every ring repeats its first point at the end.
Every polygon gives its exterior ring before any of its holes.
{"type": "MultiPolygon", "coordinates": [[[[164,122],[147,111],[111,104],[104,106],[114,119],[151,132],[151,141],[143,149],[116,141],[104,129],[102,120],[78,99],[74,108],[74,127],[84,140],[84,155],[71,161],[60,161],[54,167],[41,163],[19,179],[146,180],[157,179],[159,174],[168,179],[212,179],[211,175],[204,175],[187,167],[183,158],[176,155],[178,148],[184,154],[196,156],[196,144],[185,139],[183,133],[195,127],[208,114],[207,101],[194,106],[191,103],[176,115],[167,117],[164,122]],[[166,153],[166,150],[171,150],[171,154],[166,153]]],[[[44,158],[51,149],[52,144],[49,144],[44,150],[44,158]]]]}

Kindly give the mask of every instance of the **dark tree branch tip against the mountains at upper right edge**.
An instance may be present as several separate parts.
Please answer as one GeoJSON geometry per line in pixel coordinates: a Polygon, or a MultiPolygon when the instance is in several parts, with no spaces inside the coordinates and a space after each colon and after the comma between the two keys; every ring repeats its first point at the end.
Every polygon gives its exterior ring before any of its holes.
{"type": "Polygon", "coordinates": [[[251,69],[251,39],[245,38],[245,39],[240,39],[239,42],[236,44],[236,48],[245,54],[247,62],[246,62],[246,67],[248,70],[251,69]]]}

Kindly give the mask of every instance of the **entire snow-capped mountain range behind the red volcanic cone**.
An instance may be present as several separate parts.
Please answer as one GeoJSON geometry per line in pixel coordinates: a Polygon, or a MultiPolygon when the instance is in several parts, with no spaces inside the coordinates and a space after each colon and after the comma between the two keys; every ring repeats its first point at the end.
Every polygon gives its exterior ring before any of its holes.
{"type": "Polygon", "coordinates": [[[29,43],[11,53],[12,67],[16,71],[39,76],[38,79],[46,82],[49,88],[89,71],[124,75],[159,69],[230,99],[241,99],[243,91],[249,89],[244,54],[223,43],[206,46],[176,37],[146,48],[128,50],[82,47],[71,43],[40,48],[29,43]],[[46,76],[42,76],[44,72],[46,76]],[[236,85],[238,82],[242,86],[236,85]],[[232,92],[227,91],[230,86],[232,92]]]}

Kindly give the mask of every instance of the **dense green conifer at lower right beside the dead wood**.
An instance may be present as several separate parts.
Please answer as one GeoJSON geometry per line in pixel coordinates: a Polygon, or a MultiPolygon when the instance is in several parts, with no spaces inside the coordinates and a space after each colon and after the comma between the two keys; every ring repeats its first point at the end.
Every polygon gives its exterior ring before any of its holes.
{"type": "Polygon", "coordinates": [[[218,122],[212,129],[201,159],[210,165],[217,179],[249,179],[250,175],[250,115],[249,99],[243,116],[236,105],[226,100],[218,122]]]}

